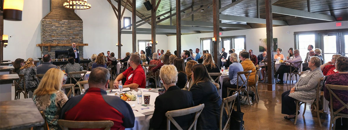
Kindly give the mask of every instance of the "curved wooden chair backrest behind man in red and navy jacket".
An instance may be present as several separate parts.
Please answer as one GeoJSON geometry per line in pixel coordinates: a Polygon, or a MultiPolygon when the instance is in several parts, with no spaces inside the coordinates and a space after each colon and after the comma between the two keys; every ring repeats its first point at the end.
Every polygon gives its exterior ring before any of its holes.
{"type": "Polygon", "coordinates": [[[58,120],[58,125],[64,129],[100,129],[105,128],[105,130],[110,130],[113,126],[112,121],[68,121],[68,120],[58,120]]]}

